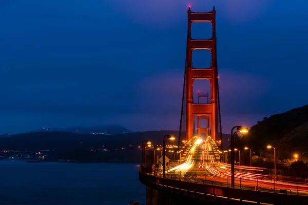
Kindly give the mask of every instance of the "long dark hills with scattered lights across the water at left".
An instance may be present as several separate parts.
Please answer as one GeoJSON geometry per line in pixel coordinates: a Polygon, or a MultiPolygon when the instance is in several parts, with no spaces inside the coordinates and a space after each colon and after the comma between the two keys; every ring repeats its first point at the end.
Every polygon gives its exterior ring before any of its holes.
{"type": "MultiPolygon", "coordinates": [[[[129,145],[141,146],[143,140],[150,140],[154,146],[163,144],[163,136],[175,135],[176,140],[168,143],[178,144],[179,131],[162,130],[127,134],[75,134],[71,132],[31,132],[0,137],[0,150],[52,150],[72,149],[74,147],[121,148],[129,145]]],[[[181,134],[185,138],[185,133],[181,134]]],[[[228,135],[223,135],[225,136],[228,135]]]]}

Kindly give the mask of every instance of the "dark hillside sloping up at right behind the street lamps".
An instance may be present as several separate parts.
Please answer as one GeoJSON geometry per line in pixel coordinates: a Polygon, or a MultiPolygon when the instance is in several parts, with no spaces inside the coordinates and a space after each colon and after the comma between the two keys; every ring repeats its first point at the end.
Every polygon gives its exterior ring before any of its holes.
{"type": "Polygon", "coordinates": [[[264,117],[249,130],[245,141],[258,150],[274,145],[284,157],[292,157],[293,152],[308,156],[308,105],[264,117]]]}

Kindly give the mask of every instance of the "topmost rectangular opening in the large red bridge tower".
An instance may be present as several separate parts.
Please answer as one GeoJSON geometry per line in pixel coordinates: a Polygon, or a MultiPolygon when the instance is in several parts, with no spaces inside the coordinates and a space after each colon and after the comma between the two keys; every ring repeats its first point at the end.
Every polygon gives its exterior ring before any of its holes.
{"type": "Polygon", "coordinates": [[[194,22],[191,24],[192,39],[210,39],[213,37],[213,28],[210,22],[194,22]]]}

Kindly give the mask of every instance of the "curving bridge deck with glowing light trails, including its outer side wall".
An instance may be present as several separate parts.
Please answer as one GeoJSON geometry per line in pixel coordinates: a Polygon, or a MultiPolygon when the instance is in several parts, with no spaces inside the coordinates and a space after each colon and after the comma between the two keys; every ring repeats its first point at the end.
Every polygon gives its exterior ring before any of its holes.
{"type": "Polygon", "coordinates": [[[306,185],[258,179],[250,172],[242,172],[243,166],[236,167],[236,186],[230,188],[228,166],[219,162],[215,143],[195,140],[185,154],[185,161],[168,170],[166,178],[161,173],[155,173],[156,176],[140,173],[140,181],[154,189],[205,201],[214,198],[216,202],[222,201],[221,204],[229,204],[230,200],[248,204],[308,204],[306,185]]]}

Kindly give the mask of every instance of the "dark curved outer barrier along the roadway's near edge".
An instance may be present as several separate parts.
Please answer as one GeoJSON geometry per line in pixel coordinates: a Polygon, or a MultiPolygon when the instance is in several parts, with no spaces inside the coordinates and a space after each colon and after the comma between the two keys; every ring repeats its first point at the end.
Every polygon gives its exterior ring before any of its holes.
{"type": "Polygon", "coordinates": [[[189,177],[187,173],[183,173],[183,176],[175,173],[167,174],[166,178],[162,178],[160,175],[154,176],[140,172],[139,179],[146,186],[201,201],[214,200],[221,201],[223,204],[228,203],[229,200],[233,203],[244,201],[258,204],[308,204],[307,196],[224,187],[224,183],[200,181],[196,175],[189,177]]]}

